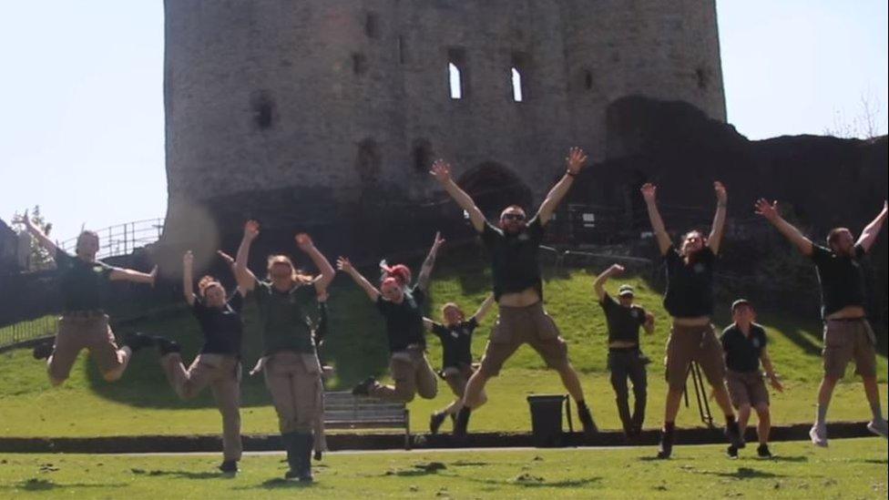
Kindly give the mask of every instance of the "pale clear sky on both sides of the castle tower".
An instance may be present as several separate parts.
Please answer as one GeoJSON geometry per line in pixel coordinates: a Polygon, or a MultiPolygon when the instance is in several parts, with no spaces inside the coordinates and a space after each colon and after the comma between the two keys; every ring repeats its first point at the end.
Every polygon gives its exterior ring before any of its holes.
{"type": "MultiPolygon", "coordinates": [[[[887,5],[718,0],[729,121],[749,138],[887,129],[887,5]]],[[[54,236],[163,217],[163,3],[0,6],[0,219],[54,236]]]]}

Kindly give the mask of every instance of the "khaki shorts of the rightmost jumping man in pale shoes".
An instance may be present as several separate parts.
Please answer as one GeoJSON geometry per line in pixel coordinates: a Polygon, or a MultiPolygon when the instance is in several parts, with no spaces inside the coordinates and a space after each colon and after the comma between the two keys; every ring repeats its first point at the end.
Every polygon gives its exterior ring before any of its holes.
{"type": "Polygon", "coordinates": [[[876,375],[876,337],[871,323],[858,320],[824,321],[824,374],[842,378],[846,365],[855,360],[855,372],[863,377],[876,375]]]}

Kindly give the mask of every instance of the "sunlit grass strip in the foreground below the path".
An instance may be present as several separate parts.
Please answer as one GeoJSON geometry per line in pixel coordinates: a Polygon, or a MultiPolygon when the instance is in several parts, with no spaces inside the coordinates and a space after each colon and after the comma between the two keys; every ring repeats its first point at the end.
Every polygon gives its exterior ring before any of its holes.
{"type": "Polygon", "coordinates": [[[281,480],[281,454],[248,455],[222,477],[215,455],[0,454],[0,496],[44,498],[885,498],[884,439],[773,445],[738,460],[722,446],[328,454],[316,482],[281,480]]]}

